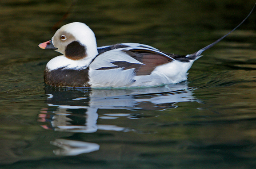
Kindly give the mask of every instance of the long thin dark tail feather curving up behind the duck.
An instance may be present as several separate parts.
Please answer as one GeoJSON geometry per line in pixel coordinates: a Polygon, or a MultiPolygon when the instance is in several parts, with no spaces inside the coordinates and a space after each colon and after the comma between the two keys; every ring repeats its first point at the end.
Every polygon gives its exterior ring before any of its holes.
{"type": "Polygon", "coordinates": [[[231,34],[233,31],[236,30],[236,28],[240,27],[240,25],[242,23],[244,23],[244,21],[251,15],[254,7],[255,7],[256,3],[254,4],[254,6],[252,7],[252,10],[251,12],[246,16],[246,18],[239,24],[237,25],[232,31],[228,32],[226,35],[222,36],[221,38],[219,38],[218,40],[216,40],[215,42],[211,43],[210,45],[208,46],[205,46],[204,48],[198,50],[197,52],[195,52],[194,54],[189,54],[187,55],[186,57],[187,58],[190,58],[190,59],[193,59],[193,60],[196,60],[197,58],[200,58],[199,56],[204,52],[204,50],[207,50],[209,48],[211,48],[212,46],[216,45],[218,42],[220,42],[222,39],[224,39],[226,36],[228,36],[229,34],[231,34]]]}

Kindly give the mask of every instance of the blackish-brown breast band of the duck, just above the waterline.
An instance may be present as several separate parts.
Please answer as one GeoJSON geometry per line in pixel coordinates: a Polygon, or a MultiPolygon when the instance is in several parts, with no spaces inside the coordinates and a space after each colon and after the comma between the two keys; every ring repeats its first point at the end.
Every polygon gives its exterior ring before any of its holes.
{"type": "Polygon", "coordinates": [[[88,84],[89,68],[83,70],[59,68],[50,71],[44,70],[44,82],[51,86],[90,87],[88,84]]]}

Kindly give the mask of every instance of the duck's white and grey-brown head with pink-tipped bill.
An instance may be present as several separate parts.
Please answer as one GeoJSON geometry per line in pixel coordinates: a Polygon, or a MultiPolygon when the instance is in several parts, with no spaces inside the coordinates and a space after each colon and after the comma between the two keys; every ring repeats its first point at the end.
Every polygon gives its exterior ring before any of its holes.
{"type": "Polygon", "coordinates": [[[51,40],[38,46],[60,52],[71,60],[92,58],[98,54],[93,31],[86,24],[79,22],[60,27],[51,40]]]}

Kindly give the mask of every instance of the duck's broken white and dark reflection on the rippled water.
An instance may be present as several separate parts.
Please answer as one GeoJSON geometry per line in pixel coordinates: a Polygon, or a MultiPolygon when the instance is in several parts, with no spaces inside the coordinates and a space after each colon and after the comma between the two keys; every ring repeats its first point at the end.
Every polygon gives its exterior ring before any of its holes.
{"type": "MultiPolygon", "coordinates": [[[[176,108],[178,102],[198,101],[192,96],[193,88],[188,88],[187,82],[155,88],[104,90],[47,86],[45,91],[50,108],[43,108],[38,115],[38,121],[46,123],[42,127],[74,133],[93,133],[97,130],[147,133],[125,126],[97,124],[97,120],[101,119],[101,123],[111,123],[111,120],[119,118],[155,117],[156,115],[147,115],[145,111],[176,108]],[[108,111],[98,114],[100,109],[108,111]],[[117,111],[118,109],[121,111],[117,111]],[[141,110],[144,110],[144,113],[141,113],[141,110]]],[[[62,148],[54,151],[56,155],[77,155],[99,150],[96,143],[59,138],[51,143],[62,148]]]]}

